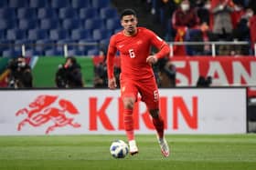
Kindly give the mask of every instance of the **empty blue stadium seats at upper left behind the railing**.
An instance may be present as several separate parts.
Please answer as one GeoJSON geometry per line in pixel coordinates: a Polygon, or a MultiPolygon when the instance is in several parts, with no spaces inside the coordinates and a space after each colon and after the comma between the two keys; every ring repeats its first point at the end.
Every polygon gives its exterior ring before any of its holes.
{"type": "MultiPolygon", "coordinates": [[[[1,0],[0,38],[5,45],[0,47],[0,56],[20,53],[15,50],[17,43],[26,46],[27,55],[62,54],[54,45],[36,45],[33,49],[28,43],[106,43],[120,28],[117,17],[111,0],[1,0]]],[[[100,53],[98,47],[92,47],[69,49],[70,54],[88,55],[89,50],[90,54],[100,53]]]]}

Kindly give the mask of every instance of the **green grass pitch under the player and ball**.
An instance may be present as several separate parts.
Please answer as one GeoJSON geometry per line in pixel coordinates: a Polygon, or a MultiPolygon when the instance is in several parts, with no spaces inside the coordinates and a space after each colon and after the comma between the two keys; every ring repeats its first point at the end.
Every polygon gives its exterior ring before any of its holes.
{"type": "Polygon", "coordinates": [[[0,170],[247,170],[256,169],[256,135],[166,135],[161,155],[155,135],[136,135],[139,155],[114,159],[109,147],[124,135],[0,136],[0,170]]]}

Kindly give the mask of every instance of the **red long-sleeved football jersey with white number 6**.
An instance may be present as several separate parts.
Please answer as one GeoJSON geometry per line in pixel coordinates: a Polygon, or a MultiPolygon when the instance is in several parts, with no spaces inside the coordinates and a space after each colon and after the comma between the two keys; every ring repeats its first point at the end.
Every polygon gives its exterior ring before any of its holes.
{"type": "Polygon", "coordinates": [[[124,35],[123,31],[112,35],[107,55],[108,77],[113,77],[113,58],[117,51],[121,57],[122,77],[133,80],[152,77],[153,69],[146,63],[152,45],[160,50],[155,54],[157,58],[169,54],[170,48],[165,41],[144,27],[138,27],[133,36],[124,35]]]}

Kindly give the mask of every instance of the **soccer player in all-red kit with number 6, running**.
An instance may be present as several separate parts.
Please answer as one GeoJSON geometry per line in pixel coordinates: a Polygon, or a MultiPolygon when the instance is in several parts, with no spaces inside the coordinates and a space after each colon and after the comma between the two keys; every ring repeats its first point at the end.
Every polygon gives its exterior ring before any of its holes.
{"type": "Polygon", "coordinates": [[[135,155],[139,152],[133,132],[133,105],[139,93],[152,116],[162,154],[167,157],[169,147],[164,136],[164,121],[159,114],[159,95],[152,65],[158,58],[169,55],[170,48],[154,32],[137,27],[137,24],[133,9],[124,9],[121,14],[123,30],[112,35],[108,48],[108,86],[110,89],[117,86],[113,75],[113,59],[118,50],[121,55],[120,87],[124,107],[124,129],[129,141],[130,154],[135,155]],[[152,45],[159,50],[155,55],[150,55],[152,45]]]}

